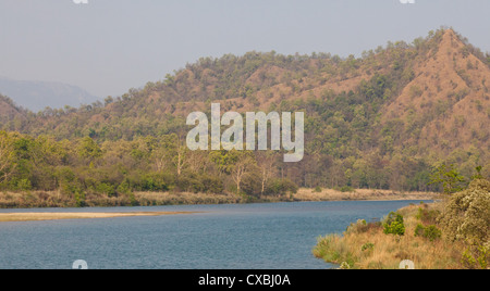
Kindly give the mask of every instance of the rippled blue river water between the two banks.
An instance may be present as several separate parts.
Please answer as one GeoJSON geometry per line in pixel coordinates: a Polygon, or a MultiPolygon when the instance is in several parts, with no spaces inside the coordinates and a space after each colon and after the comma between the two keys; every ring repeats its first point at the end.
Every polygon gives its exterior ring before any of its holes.
{"type": "Polygon", "coordinates": [[[0,268],[69,269],[74,261],[84,260],[90,269],[328,269],[335,266],[311,254],[319,236],[341,233],[352,222],[381,218],[418,202],[41,210],[201,213],[0,223],[0,268]]]}

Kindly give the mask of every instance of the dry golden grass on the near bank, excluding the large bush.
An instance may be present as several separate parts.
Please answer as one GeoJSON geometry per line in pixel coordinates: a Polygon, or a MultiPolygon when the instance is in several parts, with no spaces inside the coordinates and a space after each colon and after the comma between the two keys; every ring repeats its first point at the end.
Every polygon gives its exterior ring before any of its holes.
{"type": "MultiPolygon", "coordinates": [[[[436,206],[436,205],[433,205],[436,206]]],[[[458,269],[464,246],[442,239],[433,242],[415,237],[415,227],[420,222],[415,217],[418,206],[400,211],[405,217],[405,236],[384,235],[382,227],[366,232],[345,232],[343,237],[320,238],[314,254],[329,263],[347,262],[356,269],[397,269],[404,260],[415,263],[417,269],[458,269]],[[363,245],[373,248],[363,251],[363,245]]]]}

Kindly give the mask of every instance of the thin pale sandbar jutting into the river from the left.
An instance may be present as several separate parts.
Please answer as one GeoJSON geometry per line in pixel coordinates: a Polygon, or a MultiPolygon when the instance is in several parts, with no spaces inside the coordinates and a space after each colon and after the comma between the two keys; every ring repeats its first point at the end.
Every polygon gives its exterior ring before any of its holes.
{"type": "Polygon", "coordinates": [[[0,213],[0,223],[192,214],[192,212],[0,213]]]}

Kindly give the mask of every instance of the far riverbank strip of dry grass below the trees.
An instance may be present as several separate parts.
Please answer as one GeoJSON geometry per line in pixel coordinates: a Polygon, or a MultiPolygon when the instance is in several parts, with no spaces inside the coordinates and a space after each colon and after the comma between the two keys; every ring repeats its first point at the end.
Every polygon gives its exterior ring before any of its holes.
{"type": "Polygon", "coordinates": [[[163,206],[197,204],[240,204],[269,202],[319,202],[319,201],[390,201],[434,200],[436,193],[397,192],[391,190],[360,189],[341,192],[331,189],[315,191],[299,189],[287,195],[247,197],[234,193],[188,193],[188,192],[135,192],[108,197],[105,194],[65,195],[58,191],[0,192],[0,208],[46,208],[46,207],[114,207],[114,206],[163,206]]]}

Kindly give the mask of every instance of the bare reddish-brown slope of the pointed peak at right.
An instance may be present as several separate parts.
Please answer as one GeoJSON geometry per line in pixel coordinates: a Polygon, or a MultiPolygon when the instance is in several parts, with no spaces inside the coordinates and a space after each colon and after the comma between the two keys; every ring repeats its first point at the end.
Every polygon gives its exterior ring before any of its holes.
{"type": "Polygon", "coordinates": [[[487,150],[490,68],[448,29],[426,61],[414,65],[414,73],[416,77],[384,109],[382,117],[383,123],[396,118],[405,123],[409,137],[404,147],[440,154],[471,146],[487,150]]]}

